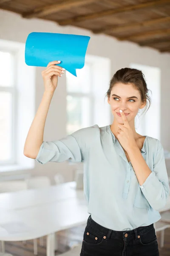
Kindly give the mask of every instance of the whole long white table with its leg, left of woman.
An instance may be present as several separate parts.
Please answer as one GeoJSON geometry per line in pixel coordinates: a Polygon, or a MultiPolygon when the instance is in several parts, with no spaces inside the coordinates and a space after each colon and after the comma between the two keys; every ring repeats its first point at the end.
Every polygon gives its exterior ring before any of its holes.
{"type": "Polygon", "coordinates": [[[54,256],[54,234],[85,224],[88,216],[83,191],[74,182],[0,194],[0,240],[47,236],[47,256],[54,256]]]}

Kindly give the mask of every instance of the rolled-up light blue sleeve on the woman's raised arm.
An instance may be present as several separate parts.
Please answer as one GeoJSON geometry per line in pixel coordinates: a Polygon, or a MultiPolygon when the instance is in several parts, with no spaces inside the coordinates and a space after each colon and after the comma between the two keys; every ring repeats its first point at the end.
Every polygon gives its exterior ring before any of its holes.
{"type": "Polygon", "coordinates": [[[71,135],[55,140],[43,141],[35,160],[41,164],[47,162],[84,162],[86,152],[95,138],[99,126],[82,128],[71,135]]]}

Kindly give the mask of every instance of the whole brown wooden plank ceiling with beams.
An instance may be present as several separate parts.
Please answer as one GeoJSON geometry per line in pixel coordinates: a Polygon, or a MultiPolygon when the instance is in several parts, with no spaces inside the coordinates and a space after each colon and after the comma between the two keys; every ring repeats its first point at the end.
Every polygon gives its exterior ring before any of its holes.
{"type": "Polygon", "coordinates": [[[0,0],[0,9],[170,52],[170,0],[0,0]]]}

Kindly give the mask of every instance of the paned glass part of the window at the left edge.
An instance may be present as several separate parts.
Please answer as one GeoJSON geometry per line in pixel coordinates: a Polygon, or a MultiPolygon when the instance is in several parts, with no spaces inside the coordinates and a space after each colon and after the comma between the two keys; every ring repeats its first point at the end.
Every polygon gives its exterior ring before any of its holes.
{"type": "Polygon", "coordinates": [[[14,163],[14,54],[0,50],[0,164],[14,163]]]}

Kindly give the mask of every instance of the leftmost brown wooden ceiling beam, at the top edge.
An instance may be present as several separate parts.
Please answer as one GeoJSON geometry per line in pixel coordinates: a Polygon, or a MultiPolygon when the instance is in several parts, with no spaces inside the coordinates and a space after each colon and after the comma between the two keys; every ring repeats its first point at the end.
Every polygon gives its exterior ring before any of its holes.
{"type": "Polygon", "coordinates": [[[83,4],[93,3],[96,0],[67,0],[64,3],[55,3],[48,4],[47,6],[43,6],[37,9],[34,9],[31,12],[23,13],[24,18],[33,18],[33,17],[42,17],[45,15],[49,15],[55,12],[68,10],[69,8],[76,8],[78,6],[82,6],[83,4]]]}

